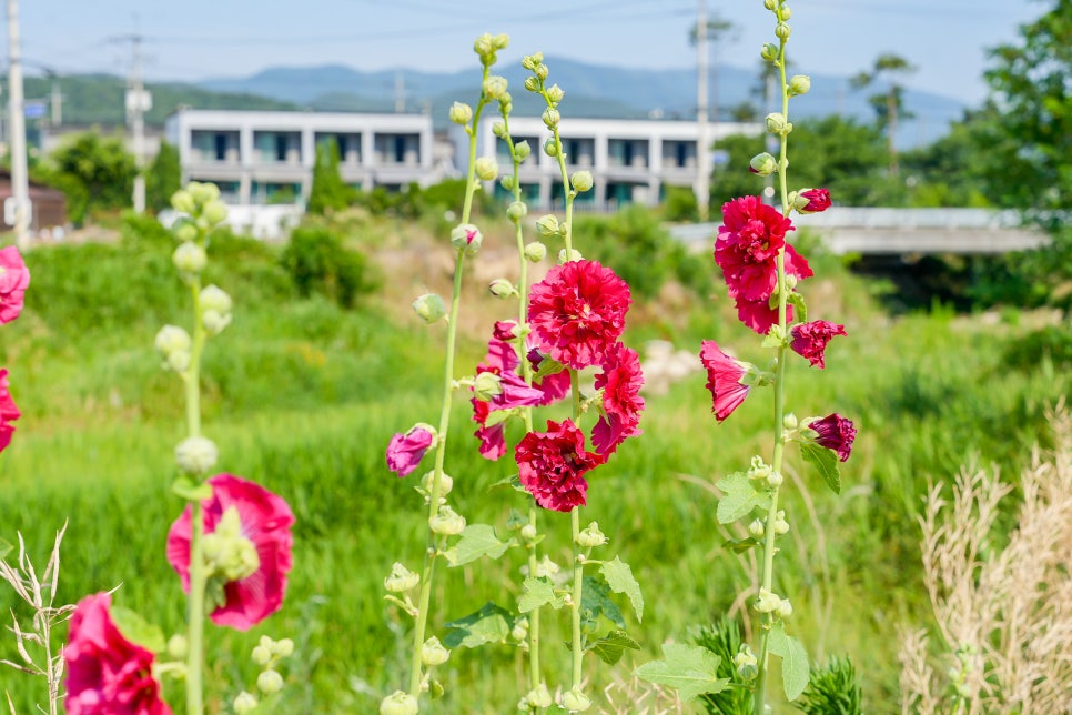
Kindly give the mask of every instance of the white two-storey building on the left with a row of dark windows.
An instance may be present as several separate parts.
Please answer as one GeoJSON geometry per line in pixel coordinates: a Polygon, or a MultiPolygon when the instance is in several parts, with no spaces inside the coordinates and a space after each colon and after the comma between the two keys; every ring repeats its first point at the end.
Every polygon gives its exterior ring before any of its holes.
{"type": "Polygon", "coordinates": [[[209,181],[233,204],[304,201],[318,142],[338,144],[354,188],[434,183],[432,118],[425,114],[181,109],[165,135],[179,148],[182,181],[209,181]]]}

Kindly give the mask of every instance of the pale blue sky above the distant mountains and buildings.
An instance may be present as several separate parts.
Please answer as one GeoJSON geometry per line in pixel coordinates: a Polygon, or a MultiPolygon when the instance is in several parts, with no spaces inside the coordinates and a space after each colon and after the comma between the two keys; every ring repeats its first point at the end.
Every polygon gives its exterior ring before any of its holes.
{"type": "MultiPolygon", "coordinates": [[[[272,66],[458,70],[472,41],[506,32],[500,62],[543,51],[601,64],[695,64],[688,31],[697,0],[21,0],[27,71],[124,74],[128,38],[144,38],[149,79],[198,80],[272,66]]],[[[737,31],[719,62],[750,68],[772,39],[762,0],[707,0],[737,31]]],[[[974,104],[985,97],[984,50],[1017,38],[1045,11],[1039,0],[796,0],[790,60],[801,73],[854,74],[894,52],[918,70],[906,84],[974,104]]],[[[7,63],[7,33],[2,38],[7,63]]]]}

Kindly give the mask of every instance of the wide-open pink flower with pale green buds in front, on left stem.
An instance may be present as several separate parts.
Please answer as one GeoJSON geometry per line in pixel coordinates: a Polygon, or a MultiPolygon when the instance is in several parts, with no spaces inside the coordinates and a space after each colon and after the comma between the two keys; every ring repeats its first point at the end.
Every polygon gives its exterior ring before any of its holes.
{"type": "MultiPolygon", "coordinates": [[[[219,552],[215,563],[210,550],[205,550],[210,596],[214,584],[222,586],[222,603],[215,604],[209,617],[216,625],[246,631],[283,605],[286,574],[293,563],[294,514],[281,496],[240,476],[216,474],[208,483],[212,485],[212,496],[201,503],[205,545],[212,534],[216,534],[214,545],[219,545],[211,550],[219,552]],[[244,575],[232,577],[235,566],[244,575]]],[[[186,593],[190,592],[190,534],[191,508],[188,506],[168,532],[168,562],[179,572],[186,593]]]]}

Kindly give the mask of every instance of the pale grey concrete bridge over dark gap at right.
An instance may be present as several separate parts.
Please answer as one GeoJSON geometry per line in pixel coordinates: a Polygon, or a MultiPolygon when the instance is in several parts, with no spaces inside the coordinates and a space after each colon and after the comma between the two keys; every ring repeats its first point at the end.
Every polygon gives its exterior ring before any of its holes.
{"type": "MultiPolygon", "coordinates": [[[[1015,211],[989,209],[860,209],[837,207],[823,213],[793,214],[798,231],[813,231],[838,254],[994,254],[1044,245],[1049,236],[1020,224],[1015,211]]],[[[714,246],[718,223],[678,225],[670,233],[700,249],[714,246]]]]}

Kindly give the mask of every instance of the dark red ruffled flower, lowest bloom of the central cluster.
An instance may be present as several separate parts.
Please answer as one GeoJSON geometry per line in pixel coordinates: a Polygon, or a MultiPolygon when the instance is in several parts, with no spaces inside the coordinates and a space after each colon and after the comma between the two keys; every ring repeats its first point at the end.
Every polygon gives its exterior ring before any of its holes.
{"type": "Polygon", "coordinates": [[[526,434],[514,447],[514,459],[522,486],[537,504],[556,512],[585,505],[584,474],[603,464],[598,454],[585,451],[585,434],[570,420],[548,420],[546,432],[526,434]]]}

